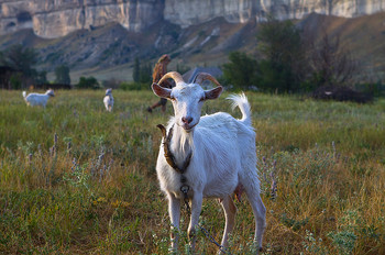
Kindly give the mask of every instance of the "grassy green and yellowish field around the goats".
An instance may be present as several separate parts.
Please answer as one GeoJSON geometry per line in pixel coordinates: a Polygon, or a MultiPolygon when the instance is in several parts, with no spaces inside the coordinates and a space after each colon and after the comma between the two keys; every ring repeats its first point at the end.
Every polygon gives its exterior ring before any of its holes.
{"type": "MultiPolygon", "coordinates": [[[[26,107],[21,91],[0,91],[0,254],[166,254],[155,126],[170,106],[150,114],[152,92],[117,90],[108,113],[101,90],[55,93],[42,109],[26,107]]],[[[385,254],[385,100],[246,95],[267,208],[261,254],[385,254]]],[[[226,96],[202,112],[231,112],[226,96]]],[[[246,201],[237,207],[231,253],[248,254],[253,215],[246,201]]],[[[220,241],[216,200],[204,202],[200,219],[220,241]]],[[[183,211],[183,253],[187,222],[183,211]]],[[[201,233],[197,246],[217,251],[201,233]]]]}

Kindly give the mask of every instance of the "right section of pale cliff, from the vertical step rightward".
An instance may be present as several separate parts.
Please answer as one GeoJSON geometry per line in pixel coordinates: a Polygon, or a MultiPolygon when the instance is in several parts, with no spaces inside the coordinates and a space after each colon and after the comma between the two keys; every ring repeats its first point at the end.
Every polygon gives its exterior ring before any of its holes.
{"type": "Polygon", "coordinates": [[[263,21],[267,13],[286,19],[301,19],[316,12],[353,18],[385,11],[384,0],[166,0],[164,16],[183,27],[223,16],[231,23],[251,19],[263,21]]]}

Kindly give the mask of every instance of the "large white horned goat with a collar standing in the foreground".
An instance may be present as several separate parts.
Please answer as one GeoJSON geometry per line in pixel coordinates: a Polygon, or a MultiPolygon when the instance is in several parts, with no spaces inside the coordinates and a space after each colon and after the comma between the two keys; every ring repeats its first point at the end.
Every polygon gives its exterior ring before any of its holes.
{"type": "MultiPolygon", "coordinates": [[[[260,197],[255,132],[246,97],[230,97],[233,107],[239,107],[242,112],[241,120],[224,112],[200,118],[204,101],[216,99],[222,92],[222,87],[209,74],[198,74],[193,84],[186,84],[178,73],[170,71],[158,84],[153,84],[152,89],[158,97],[169,99],[175,111],[167,129],[163,129],[164,138],[156,163],[161,189],[168,199],[172,230],[179,230],[180,203],[188,200],[191,204],[188,235],[193,237],[194,250],[202,199],[219,198],[226,214],[221,242],[226,248],[237,212],[231,196],[235,193],[240,199],[245,191],[255,218],[254,241],[262,248],[266,209],[260,197]],[[167,78],[175,80],[173,89],[160,86],[167,78]],[[205,80],[218,87],[204,90],[200,85],[205,80]]],[[[172,247],[177,250],[178,236],[172,231],[170,237],[172,247]]]]}

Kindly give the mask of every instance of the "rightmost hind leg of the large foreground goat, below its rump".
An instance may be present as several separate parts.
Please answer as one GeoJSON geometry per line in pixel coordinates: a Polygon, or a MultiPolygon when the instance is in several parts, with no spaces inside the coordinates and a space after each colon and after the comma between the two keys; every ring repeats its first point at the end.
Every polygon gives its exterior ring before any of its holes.
{"type": "Polygon", "coordinates": [[[260,196],[260,187],[255,185],[248,185],[245,187],[245,192],[250,206],[253,209],[255,219],[255,235],[254,242],[258,245],[260,251],[262,250],[263,233],[266,228],[266,208],[260,196]]]}

